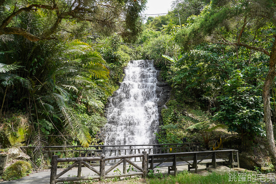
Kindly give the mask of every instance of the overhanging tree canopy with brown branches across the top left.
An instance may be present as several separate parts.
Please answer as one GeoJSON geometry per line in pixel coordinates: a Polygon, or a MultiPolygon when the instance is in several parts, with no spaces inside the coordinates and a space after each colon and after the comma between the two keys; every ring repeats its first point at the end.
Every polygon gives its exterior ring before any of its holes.
{"type": "MultiPolygon", "coordinates": [[[[0,3],[0,35],[21,35],[30,41],[56,39],[61,30],[72,32],[72,21],[85,22],[94,33],[110,35],[115,31],[131,42],[142,31],[139,16],[146,0],[116,1],[12,1],[0,3]],[[28,16],[24,16],[28,14],[28,16]],[[40,28],[20,25],[20,20],[40,17],[40,28]]],[[[73,29],[74,30],[74,29],[73,29]]],[[[73,32],[84,32],[81,26],[73,32]]]]}

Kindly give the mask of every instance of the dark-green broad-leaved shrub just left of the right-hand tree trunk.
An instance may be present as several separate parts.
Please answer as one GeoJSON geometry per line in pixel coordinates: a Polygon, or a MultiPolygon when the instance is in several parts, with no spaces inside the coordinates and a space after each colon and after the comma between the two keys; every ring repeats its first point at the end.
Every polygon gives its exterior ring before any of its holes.
{"type": "Polygon", "coordinates": [[[229,131],[253,137],[265,136],[262,90],[259,86],[248,85],[240,70],[234,72],[223,87],[224,94],[218,97],[223,105],[220,105],[215,117],[224,122],[229,131]]]}

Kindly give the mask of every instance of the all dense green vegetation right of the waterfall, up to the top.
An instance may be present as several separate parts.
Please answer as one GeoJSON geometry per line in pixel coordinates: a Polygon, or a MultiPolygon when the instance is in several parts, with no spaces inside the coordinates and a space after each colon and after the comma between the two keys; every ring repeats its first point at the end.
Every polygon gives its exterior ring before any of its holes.
{"type": "MultiPolygon", "coordinates": [[[[226,125],[244,141],[267,137],[275,161],[274,1],[173,5],[182,25],[170,12],[149,17],[141,38],[144,56],[156,59],[173,87],[159,142],[178,143],[191,135],[188,130],[207,134],[226,125]]],[[[202,138],[209,142],[209,136],[202,138]]]]}

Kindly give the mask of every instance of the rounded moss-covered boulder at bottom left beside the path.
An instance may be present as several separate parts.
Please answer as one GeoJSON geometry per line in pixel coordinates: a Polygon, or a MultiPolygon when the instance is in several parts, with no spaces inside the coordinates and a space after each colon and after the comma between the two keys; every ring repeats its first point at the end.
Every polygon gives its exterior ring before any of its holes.
{"type": "Polygon", "coordinates": [[[17,180],[32,172],[32,166],[26,161],[17,161],[8,166],[2,178],[4,180],[17,180]]]}

